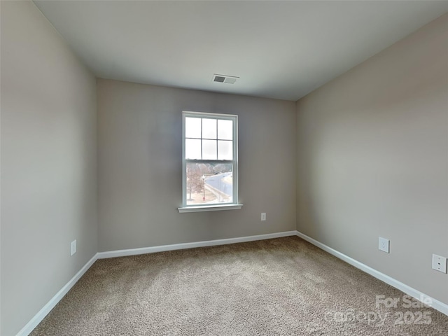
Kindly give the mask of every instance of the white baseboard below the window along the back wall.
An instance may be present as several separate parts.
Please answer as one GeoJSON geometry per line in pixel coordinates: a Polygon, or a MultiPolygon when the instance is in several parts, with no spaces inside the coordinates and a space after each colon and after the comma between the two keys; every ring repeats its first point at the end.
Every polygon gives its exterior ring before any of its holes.
{"type": "Polygon", "coordinates": [[[244,243],[246,241],[256,241],[256,240],[288,237],[288,236],[295,236],[295,235],[297,235],[297,231],[285,231],[285,232],[277,232],[277,233],[268,233],[267,235],[246,236],[246,237],[228,238],[228,239],[216,239],[216,240],[207,240],[207,241],[197,241],[194,243],[181,243],[181,244],[151,246],[151,247],[142,247],[142,248],[131,248],[129,250],[99,252],[99,253],[97,253],[97,255],[98,255],[98,259],[116,258],[116,257],[125,257],[127,255],[139,255],[139,254],[146,254],[146,253],[183,250],[186,248],[244,243]]]}

